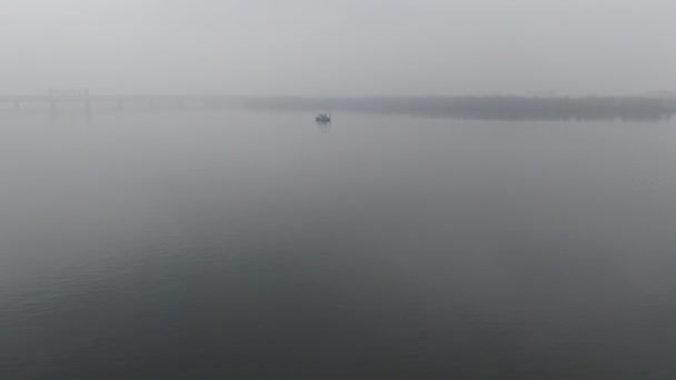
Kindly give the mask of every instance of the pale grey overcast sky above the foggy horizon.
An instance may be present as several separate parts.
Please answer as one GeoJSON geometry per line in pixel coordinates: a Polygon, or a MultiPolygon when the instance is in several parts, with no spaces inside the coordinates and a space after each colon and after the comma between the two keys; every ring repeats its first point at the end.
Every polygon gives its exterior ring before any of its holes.
{"type": "Polygon", "coordinates": [[[674,0],[0,0],[2,93],[676,89],[674,0]]]}

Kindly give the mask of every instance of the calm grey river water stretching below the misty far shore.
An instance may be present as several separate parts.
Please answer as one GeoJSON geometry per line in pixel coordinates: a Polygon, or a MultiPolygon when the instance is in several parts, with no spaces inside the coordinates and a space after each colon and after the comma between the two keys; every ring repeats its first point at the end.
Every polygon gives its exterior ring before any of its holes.
{"type": "Polygon", "coordinates": [[[676,124],[1,118],[2,379],[676,376],[676,124]]]}

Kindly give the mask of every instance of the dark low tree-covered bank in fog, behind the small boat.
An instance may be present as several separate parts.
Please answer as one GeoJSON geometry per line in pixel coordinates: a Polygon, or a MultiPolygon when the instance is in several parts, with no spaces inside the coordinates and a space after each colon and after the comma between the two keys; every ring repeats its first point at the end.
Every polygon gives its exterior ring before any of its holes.
{"type": "Polygon", "coordinates": [[[669,97],[370,97],[247,99],[245,107],[297,111],[349,111],[496,120],[666,120],[676,113],[669,97]]]}

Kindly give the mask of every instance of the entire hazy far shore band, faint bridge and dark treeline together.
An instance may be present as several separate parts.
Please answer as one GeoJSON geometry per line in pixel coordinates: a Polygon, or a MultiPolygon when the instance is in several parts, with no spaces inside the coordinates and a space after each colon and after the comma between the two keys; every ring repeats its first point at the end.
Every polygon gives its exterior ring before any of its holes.
{"type": "Polygon", "coordinates": [[[676,97],[235,97],[235,96],[0,96],[1,110],[84,108],[262,109],[361,112],[481,120],[669,120],[676,97]]]}

